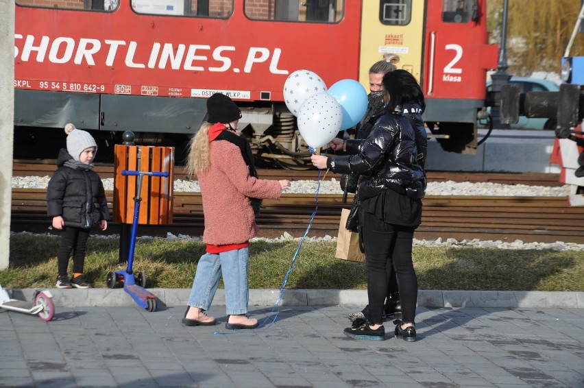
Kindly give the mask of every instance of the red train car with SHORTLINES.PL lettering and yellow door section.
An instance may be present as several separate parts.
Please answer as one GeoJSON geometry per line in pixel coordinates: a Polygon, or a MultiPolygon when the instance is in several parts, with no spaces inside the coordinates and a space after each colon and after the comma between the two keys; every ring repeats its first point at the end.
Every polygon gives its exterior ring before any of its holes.
{"type": "Polygon", "coordinates": [[[72,122],[101,145],[132,130],[180,147],[219,91],[242,108],[258,160],[302,167],[287,76],[367,88],[391,52],[424,88],[428,128],[472,151],[497,61],[485,14],[484,0],[16,0],[15,140],[61,141],[49,129],[72,122]]]}

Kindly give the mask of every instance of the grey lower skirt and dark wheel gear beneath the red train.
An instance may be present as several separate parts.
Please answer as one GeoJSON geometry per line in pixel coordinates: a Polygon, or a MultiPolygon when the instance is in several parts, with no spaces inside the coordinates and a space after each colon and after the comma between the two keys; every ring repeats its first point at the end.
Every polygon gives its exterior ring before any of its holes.
{"type": "MultiPolygon", "coordinates": [[[[66,144],[62,128],[73,123],[96,139],[96,162],[113,162],[114,145],[122,143],[123,132],[132,131],[138,145],[175,147],[175,164],[184,165],[190,138],[206,114],[206,99],[15,92],[16,159],[56,158],[66,144]]],[[[283,103],[237,104],[243,116],[239,128],[250,141],[258,167],[313,169],[296,117],[283,103]]],[[[443,149],[465,154],[476,150],[474,123],[428,121],[427,125],[443,149]]],[[[354,130],[347,132],[339,132],[339,136],[354,134],[354,130]]]]}

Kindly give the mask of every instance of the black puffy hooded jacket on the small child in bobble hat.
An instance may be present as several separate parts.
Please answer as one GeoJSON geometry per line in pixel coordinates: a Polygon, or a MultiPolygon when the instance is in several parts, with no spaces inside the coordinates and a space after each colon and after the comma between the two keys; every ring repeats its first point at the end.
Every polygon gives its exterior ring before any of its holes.
{"type": "Polygon", "coordinates": [[[64,163],[73,159],[61,149],[58,169],[47,188],[47,215],[63,217],[65,226],[94,228],[102,219],[110,219],[106,191],[99,175],[87,169],[73,169],[64,163]]]}

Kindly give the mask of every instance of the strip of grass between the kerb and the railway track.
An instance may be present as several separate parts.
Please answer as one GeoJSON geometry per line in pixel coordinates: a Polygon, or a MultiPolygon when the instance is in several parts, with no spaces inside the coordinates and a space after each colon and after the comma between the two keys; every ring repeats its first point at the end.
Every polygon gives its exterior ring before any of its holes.
{"type": "MultiPolygon", "coordinates": [[[[0,271],[9,288],[55,287],[60,238],[38,234],[10,237],[10,267],[0,271]]],[[[366,289],[364,263],[334,258],[336,244],[305,241],[287,289],[366,289]]],[[[250,288],[279,289],[291,267],[297,241],[250,245],[250,288]]],[[[138,239],[133,269],[145,271],[147,288],[191,288],[204,244],[191,240],[138,239]]],[[[501,250],[470,247],[413,248],[419,289],[584,291],[584,252],[501,250]]],[[[119,239],[90,237],[85,273],[106,288],[108,271],[125,269],[119,239]]],[[[71,268],[71,261],[69,268],[71,268]]],[[[220,285],[222,287],[222,285],[220,285]]]]}

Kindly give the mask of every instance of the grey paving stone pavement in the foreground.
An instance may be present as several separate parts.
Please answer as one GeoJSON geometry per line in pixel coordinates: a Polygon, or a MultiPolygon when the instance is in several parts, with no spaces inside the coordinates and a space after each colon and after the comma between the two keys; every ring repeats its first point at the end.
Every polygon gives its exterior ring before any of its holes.
{"type": "Polygon", "coordinates": [[[584,387],[584,308],[576,306],[419,306],[418,341],[408,343],[391,336],[392,322],[386,341],[345,337],[358,304],[250,302],[263,326],[226,330],[221,298],[209,311],[220,324],[187,327],[182,303],[149,313],[51,291],[51,322],[0,309],[0,386],[584,387]]]}

